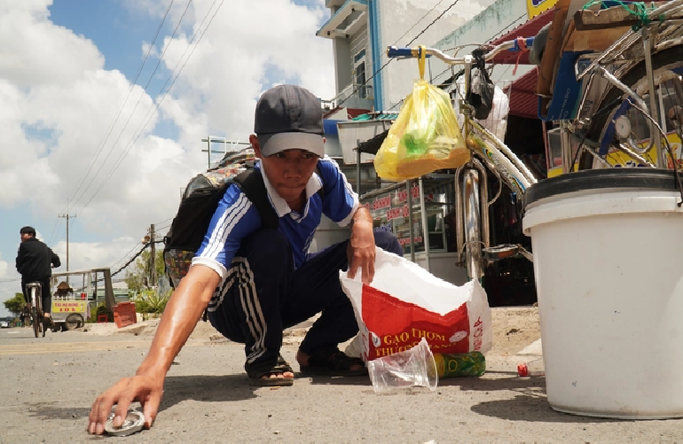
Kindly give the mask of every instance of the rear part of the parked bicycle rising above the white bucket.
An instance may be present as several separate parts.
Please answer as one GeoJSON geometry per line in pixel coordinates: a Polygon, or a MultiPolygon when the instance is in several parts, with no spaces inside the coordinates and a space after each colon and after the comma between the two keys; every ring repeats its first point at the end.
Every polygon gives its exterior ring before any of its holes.
{"type": "MultiPolygon", "coordinates": [[[[683,167],[683,152],[676,159],[675,149],[675,138],[678,146],[683,140],[682,19],[683,1],[668,2],[642,15],[640,29],[632,28],[607,50],[577,60],[576,78],[586,79],[586,88],[580,113],[567,126],[579,143],[571,156],[578,170],[683,167]],[[596,94],[600,90],[604,92],[596,94]],[[599,97],[599,105],[586,105],[588,97],[599,97]]],[[[618,26],[623,24],[599,23],[593,28],[618,26]]]]}

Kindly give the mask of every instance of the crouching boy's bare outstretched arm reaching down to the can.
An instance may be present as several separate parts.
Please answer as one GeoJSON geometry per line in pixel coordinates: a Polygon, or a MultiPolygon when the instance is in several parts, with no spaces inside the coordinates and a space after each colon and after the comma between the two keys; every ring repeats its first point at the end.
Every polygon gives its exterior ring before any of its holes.
{"type": "Polygon", "coordinates": [[[123,378],[98,396],[90,409],[88,432],[101,434],[114,404],[114,426],[122,425],[130,402],[139,401],[145,414],[145,427],[154,422],[166,373],[171,362],[190,337],[216,290],[220,277],[208,267],[193,266],[169,300],[154,334],[149,353],[132,378],[123,378]]]}

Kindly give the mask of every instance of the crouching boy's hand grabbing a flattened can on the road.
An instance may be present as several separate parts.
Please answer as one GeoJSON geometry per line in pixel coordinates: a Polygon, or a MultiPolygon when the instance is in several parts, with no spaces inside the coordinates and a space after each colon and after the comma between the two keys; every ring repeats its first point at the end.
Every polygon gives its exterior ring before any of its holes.
{"type": "Polygon", "coordinates": [[[133,378],[123,378],[113,387],[98,396],[90,409],[88,432],[102,434],[105,423],[116,404],[114,411],[114,427],[120,427],[128,415],[130,402],[139,401],[145,414],[145,428],[153,425],[159,410],[161,395],[163,394],[164,377],[137,375],[133,378]]]}

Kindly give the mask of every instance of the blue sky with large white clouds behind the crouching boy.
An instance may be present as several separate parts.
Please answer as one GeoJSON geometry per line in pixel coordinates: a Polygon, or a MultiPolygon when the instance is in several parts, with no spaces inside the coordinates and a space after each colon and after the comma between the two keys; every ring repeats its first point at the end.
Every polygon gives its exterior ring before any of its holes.
{"type": "Polygon", "coordinates": [[[256,98],[275,83],[334,96],[332,44],[315,36],[324,0],[193,0],[182,21],[188,2],[174,1],[132,83],[169,4],[0,1],[0,300],[20,292],[23,225],[62,271],[58,216],[75,216],[69,269],[115,271],[151,223],[168,230],[180,188],[206,167],[202,137],[245,141],[256,98]]]}

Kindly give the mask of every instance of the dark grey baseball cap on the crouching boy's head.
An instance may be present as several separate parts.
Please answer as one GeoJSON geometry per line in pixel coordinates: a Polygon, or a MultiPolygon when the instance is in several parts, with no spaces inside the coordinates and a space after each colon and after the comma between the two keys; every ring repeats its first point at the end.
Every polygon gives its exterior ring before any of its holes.
{"type": "Polygon", "coordinates": [[[325,156],[323,112],[318,98],[296,85],[278,85],[256,103],[254,132],[265,157],[286,150],[325,156]]]}

